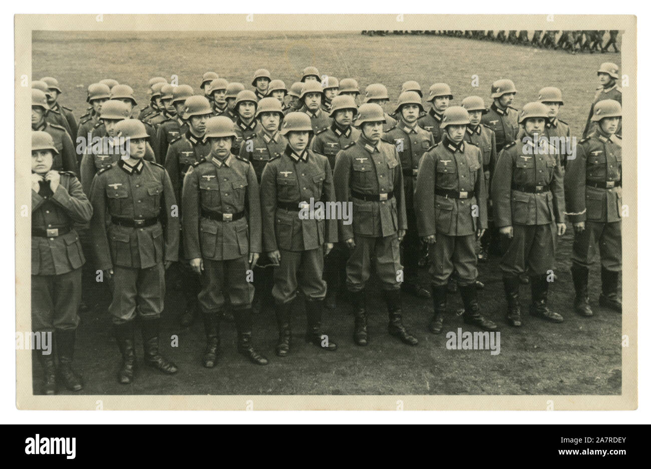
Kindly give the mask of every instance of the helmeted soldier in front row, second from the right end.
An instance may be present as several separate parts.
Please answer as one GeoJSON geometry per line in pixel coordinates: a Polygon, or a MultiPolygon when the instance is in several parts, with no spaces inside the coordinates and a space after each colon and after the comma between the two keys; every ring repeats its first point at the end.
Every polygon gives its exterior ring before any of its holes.
{"type": "Polygon", "coordinates": [[[543,135],[547,123],[543,103],[527,103],[519,123],[525,135],[511,142],[497,157],[491,183],[495,225],[504,243],[500,269],[508,302],[506,320],[522,325],[519,304],[519,276],[531,276],[529,314],[553,323],[563,317],[547,308],[547,277],[554,262],[555,236],[565,233],[565,200],[561,160],[553,146],[534,138],[543,135]]]}

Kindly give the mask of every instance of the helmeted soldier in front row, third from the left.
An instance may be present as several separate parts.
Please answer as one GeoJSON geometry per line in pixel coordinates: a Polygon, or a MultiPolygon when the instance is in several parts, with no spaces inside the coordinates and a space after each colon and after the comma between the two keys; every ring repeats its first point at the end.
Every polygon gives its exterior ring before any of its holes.
{"type": "Polygon", "coordinates": [[[253,269],[262,249],[260,193],[253,165],[230,152],[233,126],[227,116],[208,120],[210,157],[196,161],[183,184],[184,250],[201,278],[206,368],[213,368],[217,361],[225,288],[234,310],[238,352],[254,364],[268,364],[251,344],[253,286],[247,281],[247,271],[253,269]]]}

